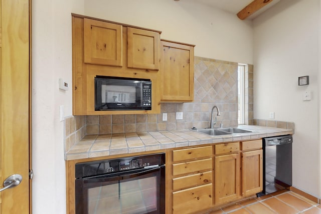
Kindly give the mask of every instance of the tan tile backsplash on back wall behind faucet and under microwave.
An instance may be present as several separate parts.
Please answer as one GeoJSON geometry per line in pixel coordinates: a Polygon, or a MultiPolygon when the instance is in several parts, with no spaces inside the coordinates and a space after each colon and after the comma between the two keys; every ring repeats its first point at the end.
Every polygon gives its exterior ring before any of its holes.
{"type": "Polygon", "coordinates": [[[214,105],[221,112],[216,126],[237,126],[237,68],[237,63],[195,57],[193,102],[162,103],[161,114],[86,116],[86,134],[207,128],[214,105]],[[183,119],[177,120],[176,112],[183,112],[183,119]]]}

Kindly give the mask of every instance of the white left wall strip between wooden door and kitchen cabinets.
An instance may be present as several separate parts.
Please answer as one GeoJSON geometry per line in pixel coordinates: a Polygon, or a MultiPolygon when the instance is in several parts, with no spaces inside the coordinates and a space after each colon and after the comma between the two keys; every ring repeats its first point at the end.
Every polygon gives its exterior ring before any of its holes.
{"type": "Polygon", "coordinates": [[[83,13],[80,0],[32,1],[32,159],[33,213],[66,213],[64,126],[59,106],[71,115],[71,12],[83,13]]]}

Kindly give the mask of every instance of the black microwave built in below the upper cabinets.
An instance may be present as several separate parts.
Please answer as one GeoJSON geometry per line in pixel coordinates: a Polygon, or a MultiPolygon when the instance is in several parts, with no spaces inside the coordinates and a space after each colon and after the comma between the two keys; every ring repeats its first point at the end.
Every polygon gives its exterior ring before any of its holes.
{"type": "Polygon", "coordinates": [[[95,77],[95,111],[151,110],[148,79],[95,77]]]}

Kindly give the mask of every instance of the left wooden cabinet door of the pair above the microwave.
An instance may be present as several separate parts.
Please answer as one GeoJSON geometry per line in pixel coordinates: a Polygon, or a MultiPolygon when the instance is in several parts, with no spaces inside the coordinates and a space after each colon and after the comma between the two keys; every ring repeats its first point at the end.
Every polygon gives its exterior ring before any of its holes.
{"type": "Polygon", "coordinates": [[[122,66],[122,26],[84,18],[84,61],[122,66]]]}

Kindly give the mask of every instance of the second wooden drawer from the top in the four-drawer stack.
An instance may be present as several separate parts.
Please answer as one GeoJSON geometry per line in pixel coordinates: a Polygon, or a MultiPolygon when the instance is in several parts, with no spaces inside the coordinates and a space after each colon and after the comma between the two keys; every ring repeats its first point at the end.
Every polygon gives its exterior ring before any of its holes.
{"type": "Polygon", "coordinates": [[[173,164],[173,175],[187,174],[201,170],[212,170],[212,158],[173,164]]]}

